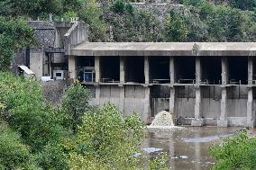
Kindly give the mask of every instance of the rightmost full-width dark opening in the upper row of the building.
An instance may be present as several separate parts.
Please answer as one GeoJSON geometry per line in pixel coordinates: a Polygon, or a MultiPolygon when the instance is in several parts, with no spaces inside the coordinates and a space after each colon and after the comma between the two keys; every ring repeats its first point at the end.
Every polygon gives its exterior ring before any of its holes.
{"type": "Polygon", "coordinates": [[[248,58],[228,58],[229,83],[234,85],[247,85],[248,79],[248,58]]]}

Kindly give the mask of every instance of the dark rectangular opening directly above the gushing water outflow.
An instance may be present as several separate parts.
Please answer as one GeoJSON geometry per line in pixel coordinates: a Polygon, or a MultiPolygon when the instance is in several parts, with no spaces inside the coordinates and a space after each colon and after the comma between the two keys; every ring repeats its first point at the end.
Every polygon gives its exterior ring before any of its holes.
{"type": "Polygon", "coordinates": [[[151,57],[149,58],[149,63],[151,83],[169,83],[169,58],[151,57]]]}

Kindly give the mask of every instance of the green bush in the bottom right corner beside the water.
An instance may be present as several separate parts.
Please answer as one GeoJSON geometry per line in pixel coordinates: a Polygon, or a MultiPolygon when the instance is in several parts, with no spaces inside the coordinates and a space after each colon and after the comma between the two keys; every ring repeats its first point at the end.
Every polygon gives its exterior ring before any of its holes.
{"type": "Polygon", "coordinates": [[[256,166],[256,138],[249,138],[243,130],[234,137],[224,139],[224,144],[211,148],[217,164],[213,169],[252,170],[256,166]]]}

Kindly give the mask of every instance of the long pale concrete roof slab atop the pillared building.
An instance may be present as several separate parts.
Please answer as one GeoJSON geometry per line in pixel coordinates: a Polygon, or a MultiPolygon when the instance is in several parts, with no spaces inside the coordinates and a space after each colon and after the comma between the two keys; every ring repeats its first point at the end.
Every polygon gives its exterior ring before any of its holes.
{"type": "Polygon", "coordinates": [[[84,42],[73,56],[256,56],[256,42],[84,42]]]}

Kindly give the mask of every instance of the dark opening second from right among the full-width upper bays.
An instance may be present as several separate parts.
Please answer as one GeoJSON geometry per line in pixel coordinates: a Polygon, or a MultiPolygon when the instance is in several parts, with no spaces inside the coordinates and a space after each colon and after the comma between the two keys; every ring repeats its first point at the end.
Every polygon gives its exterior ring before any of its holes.
{"type": "Polygon", "coordinates": [[[202,82],[208,85],[220,85],[222,79],[222,63],[219,57],[202,57],[202,82]]]}

